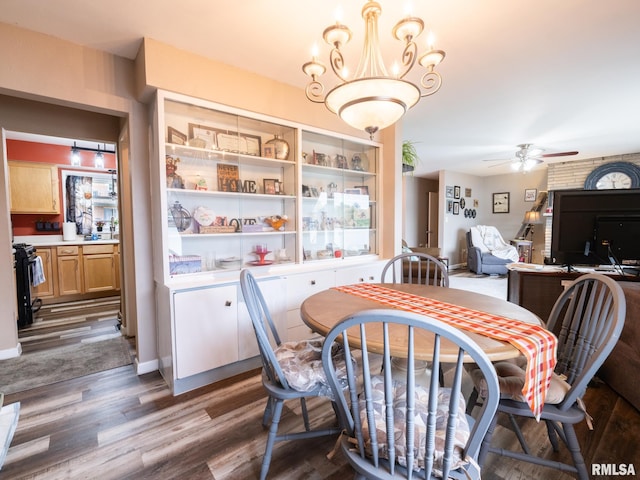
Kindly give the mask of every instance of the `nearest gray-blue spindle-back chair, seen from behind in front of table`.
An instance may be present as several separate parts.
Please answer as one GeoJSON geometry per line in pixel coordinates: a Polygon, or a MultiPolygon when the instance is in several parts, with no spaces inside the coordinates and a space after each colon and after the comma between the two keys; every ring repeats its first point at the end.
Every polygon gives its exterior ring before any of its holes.
{"type": "Polygon", "coordinates": [[[327,334],[322,364],[344,428],[340,449],[354,468],[355,479],[480,478],[478,453],[500,393],[491,362],[464,332],[412,312],[365,310],[341,320],[327,334]],[[458,346],[447,387],[441,387],[435,376],[427,386],[415,381],[414,338],[420,330],[434,334],[429,361],[436,368],[441,342],[458,346]],[[407,339],[402,351],[394,351],[408,360],[404,376],[394,375],[391,366],[390,342],[398,335],[407,339]],[[346,388],[331,356],[334,343],[357,362],[345,364],[346,388]],[[477,362],[486,375],[487,397],[475,420],[465,414],[465,359],[477,362]]]}

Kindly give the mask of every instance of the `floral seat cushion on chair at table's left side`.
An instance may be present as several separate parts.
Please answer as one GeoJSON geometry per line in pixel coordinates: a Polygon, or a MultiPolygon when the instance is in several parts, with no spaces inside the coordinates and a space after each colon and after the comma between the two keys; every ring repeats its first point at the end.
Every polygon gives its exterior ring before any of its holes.
{"type": "MultiPolygon", "coordinates": [[[[322,340],[285,342],[275,349],[275,355],[291,388],[299,392],[319,389],[318,395],[330,396],[322,368],[322,340]]],[[[339,344],[333,345],[332,356],[338,378],[346,378],[344,352],[339,344]]]]}

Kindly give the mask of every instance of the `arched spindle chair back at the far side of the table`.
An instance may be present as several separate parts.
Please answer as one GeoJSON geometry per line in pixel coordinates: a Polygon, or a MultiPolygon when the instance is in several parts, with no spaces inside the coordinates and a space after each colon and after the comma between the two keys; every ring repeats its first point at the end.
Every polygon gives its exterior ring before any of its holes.
{"type": "Polygon", "coordinates": [[[390,259],[381,275],[382,283],[419,283],[449,286],[447,266],[427,253],[401,253],[390,259]]]}

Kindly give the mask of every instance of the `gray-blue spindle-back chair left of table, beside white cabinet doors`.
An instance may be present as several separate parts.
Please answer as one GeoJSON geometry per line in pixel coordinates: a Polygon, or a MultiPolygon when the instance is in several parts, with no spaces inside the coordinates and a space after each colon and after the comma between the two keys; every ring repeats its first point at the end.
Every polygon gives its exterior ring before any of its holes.
{"type": "MultiPolygon", "coordinates": [[[[337,426],[312,429],[309,422],[306,398],[326,397],[330,392],[324,381],[324,371],[320,361],[322,342],[304,340],[283,343],[258,282],[247,269],[240,272],[240,287],[256,334],[262,360],[262,385],[268,395],[262,418],[262,425],[269,428],[260,470],[260,480],[264,480],[267,478],[273,446],[276,442],[336,435],[340,429],[337,426]],[[316,379],[316,381],[301,382],[309,379],[316,379]],[[300,401],[304,430],[278,435],[278,425],[284,402],[287,400],[300,401]]],[[[330,401],[328,397],[327,401],[330,401]]],[[[335,411],[335,405],[333,407],[335,411]]]]}

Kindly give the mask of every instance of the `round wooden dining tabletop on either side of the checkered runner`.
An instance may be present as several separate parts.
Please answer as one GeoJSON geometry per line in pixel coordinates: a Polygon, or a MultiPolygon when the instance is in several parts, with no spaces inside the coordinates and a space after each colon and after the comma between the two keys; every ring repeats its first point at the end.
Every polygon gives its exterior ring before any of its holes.
{"type": "MultiPolygon", "coordinates": [[[[501,317],[542,325],[540,318],[534,313],[506,300],[483,295],[480,293],[459,290],[456,288],[438,287],[432,285],[416,285],[406,283],[377,284],[421,297],[431,298],[468,309],[477,310],[501,317]]],[[[300,307],[303,322],[316,333],[325,336],[343,318],[354,313],[370,309],[388,309],[391,306],[379,303],[369,298],[362,298],[330,288],[318,292],[306,298],[300,307]]],[[[392,326],[393,327],[393,326],[392,326]]],[[[397,326],[396,326],[397,327],[397,326]]],[[[487,336],[466,331],[465,333],[476,342],[491,361],[506,360],[521,355],[521,352],[508,342],[495,340],[487,336]]],[[[349,336],[350,339],[352,338],[349,336]]],[[[372,327],[367,332],[370,350],[379,350],[382,353],[382,329],[372,327]]],[[[402,356],[406,354],[407,333],[406,327],[397,327],[390,330],[392,339],[392,354],[402,356]]],[[[354,335],[353,339],[355,340],[354,335]]],[[[440,359],[445,362],[453,362],[458,355],[458,347],[443,340],[440,351],[440,359]]],[[[425,330],[416,332],[415,358],[430,360],[433,354],[433,335],[425,330]]]]}

